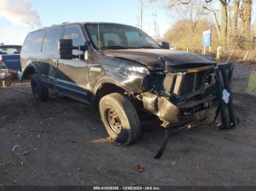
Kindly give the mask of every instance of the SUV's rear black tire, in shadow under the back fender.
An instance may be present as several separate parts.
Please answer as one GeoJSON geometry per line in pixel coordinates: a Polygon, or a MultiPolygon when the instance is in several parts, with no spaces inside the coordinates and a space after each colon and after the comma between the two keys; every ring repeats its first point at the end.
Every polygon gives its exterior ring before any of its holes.
{"type": "Polygon", "coordinates": [[[36,101],[47,101],[48,100],[48,88],[40,82],[38,74],[33,74],[31,77],[31,90],[36,101]]]}

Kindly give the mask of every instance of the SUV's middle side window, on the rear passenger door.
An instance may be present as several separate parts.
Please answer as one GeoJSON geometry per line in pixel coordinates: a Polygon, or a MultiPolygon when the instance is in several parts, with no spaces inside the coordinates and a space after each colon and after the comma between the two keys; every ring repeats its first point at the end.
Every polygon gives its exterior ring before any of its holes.
{"type": "Polygon", "coordinates": [[[61,28],[54,28],[47,31],[44,42],[42,43],[42,52],[56,52],[61,28]]]}

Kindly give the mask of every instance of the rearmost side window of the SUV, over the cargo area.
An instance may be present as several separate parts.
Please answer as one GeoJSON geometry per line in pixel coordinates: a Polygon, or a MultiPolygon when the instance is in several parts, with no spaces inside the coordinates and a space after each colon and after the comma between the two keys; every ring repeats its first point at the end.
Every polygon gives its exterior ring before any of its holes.
{"type": "Polygon", "coordinates": [[[42,39],[45,36],[45,31],[36,31],[29,34],[23,44],[23,52],[39,52],[42,47],[42,39]]]}

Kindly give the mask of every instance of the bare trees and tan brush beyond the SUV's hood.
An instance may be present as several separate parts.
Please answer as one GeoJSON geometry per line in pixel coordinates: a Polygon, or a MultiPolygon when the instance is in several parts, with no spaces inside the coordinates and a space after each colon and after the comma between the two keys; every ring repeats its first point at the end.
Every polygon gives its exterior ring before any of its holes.
{"type": "Polygon", "coordinates": [[[225,50],[255,49],[254,0],[167,0],[167,9],[176,23],[165,40],[177,47],[202,47],[202,33],[212,31],[212,46],[225,50]]]}

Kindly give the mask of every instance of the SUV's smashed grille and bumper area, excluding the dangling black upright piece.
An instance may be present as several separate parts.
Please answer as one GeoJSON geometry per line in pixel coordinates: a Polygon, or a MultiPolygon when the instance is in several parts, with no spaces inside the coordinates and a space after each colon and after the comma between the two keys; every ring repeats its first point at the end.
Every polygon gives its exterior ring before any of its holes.
{"type": "Polygon", "coordinates": [[[217,106],[214,68],[169,69],[162,79],[146,79],[151,90],[142,94],[144,108],[156,114],[165,128],[205,119],[217,106]]]}

